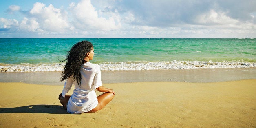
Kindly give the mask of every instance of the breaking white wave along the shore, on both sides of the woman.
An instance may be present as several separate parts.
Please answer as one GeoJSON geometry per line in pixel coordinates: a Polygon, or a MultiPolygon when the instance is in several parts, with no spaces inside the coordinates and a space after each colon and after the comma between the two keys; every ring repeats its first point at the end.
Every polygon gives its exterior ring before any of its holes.
{"type": "MultiPolygon", "coordinates": [[[[254,68],[256,63],[250,62],[104,62],[99,64],[101,70],[157,70],[157,69],[202,69],[202,68],[254,68]]],[[[62,71],[63,64],[0,64],[0,72],[39,72],[62,71]]]]}

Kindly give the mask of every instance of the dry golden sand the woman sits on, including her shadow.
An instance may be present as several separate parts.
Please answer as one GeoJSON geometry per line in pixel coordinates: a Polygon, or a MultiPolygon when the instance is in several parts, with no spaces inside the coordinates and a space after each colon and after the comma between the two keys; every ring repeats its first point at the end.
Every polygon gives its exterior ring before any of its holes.
{"type": "Polygon", "coordinates": [[[104,86],[113,101],[75,115],[57,99],[63,86],[0,83],[0,127],[256,127],[256,79],[104,86]]]}

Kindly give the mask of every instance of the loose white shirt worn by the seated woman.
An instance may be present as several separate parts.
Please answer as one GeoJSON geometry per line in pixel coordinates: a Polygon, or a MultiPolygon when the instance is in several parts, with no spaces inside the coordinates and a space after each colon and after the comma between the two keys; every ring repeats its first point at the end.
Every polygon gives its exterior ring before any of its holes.
{"type": "Polygon", "coordinates": [[[72,84],[75,89],[67,104],[68,113],[84,113],[92,110],[98,105],[97,95],[95,89],[102,86],[100,67],[98,64],[86,62],[81,65],[81,84],[80,87],[73,78],[66,80],[62,90],[62,96],[71,89],[72,84]]]}

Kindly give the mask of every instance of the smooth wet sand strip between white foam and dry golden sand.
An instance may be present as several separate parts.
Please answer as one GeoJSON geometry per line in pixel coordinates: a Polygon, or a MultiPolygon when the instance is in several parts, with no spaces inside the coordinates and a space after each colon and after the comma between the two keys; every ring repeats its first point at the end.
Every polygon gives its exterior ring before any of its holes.
{"type": "MultiPolygon", "coordinates": [[[[225,82],[256,79],[256,68],[206,68],[172,70],[101,71],[102,83],[130,82],[225,82]]],[[[60,71],[0,73],[0,82],[64,85],[60,71]]]]}

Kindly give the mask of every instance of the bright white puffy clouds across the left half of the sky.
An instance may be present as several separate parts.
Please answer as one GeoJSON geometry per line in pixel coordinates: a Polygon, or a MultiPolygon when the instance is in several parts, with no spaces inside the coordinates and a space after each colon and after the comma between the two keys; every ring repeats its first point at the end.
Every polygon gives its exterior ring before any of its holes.
{"type": "MultiPolygon", "coordinates": [[[[106,8],[105,8],[106,9],[106,8]]],[[[19,11],[20,7],[12,5],[9,13],[19,11]]],[[[107,12],[104,9],[97,11],[90,0],[81,0],[79,3],[71,3],[69,8],[58,9],[52,4],[46,6],[36,2],[29,11],[23,11],[26,15],[16,29],[20,31],[64,33],[71,32],[86,34],[86,31],[111,31],[121,28],[120,15],[115,12],[107,12]],[[101,15],[101,16],[100,16],[101,15]]],[[[1,20],[1,28],[10,28],[12,20],[1,20]],[[7,22],[9,21],[9,22],[7,22]]],[[[96,32],[99,33],[99,32],[96,32]]]]}

